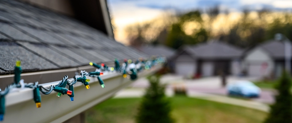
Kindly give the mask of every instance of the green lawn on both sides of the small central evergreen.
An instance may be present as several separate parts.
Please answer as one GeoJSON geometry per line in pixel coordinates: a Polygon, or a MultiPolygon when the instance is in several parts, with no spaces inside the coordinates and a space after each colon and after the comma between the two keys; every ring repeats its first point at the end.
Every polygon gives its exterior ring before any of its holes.
{"type": "MultiPolygon", "coordinates": [[[[176,123],[261,123],[266,113],[185,96],[170,98],[176,123]]],[[[109,99],[86,111],[87,123],[134,123],[141,98],[109,99]]]]}

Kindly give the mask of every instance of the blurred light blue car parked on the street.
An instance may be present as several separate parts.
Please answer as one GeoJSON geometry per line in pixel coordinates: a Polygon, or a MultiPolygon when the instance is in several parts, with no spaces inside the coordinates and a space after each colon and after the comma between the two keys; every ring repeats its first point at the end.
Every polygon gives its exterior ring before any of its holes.
{"type": "Polygon", "coordinates": [[[251,81],[235,81],[227,85],[229,95],[243,97],[259,97],[261,89],[251,81]]]}

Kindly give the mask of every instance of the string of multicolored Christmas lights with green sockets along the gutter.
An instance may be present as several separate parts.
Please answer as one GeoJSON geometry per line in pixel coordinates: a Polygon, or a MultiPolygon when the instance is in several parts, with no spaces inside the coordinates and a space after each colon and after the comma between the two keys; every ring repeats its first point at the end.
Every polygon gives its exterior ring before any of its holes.
{"type": "Polygon", "coordinates": [[[89,65],[92,65],[96,68],[93,72],[86,72],[85,70],[81,70],[80,75],[76,75],[73,79],[68,79],[68,76],[64,76],[63,79],[57,85],[50,85],[49,88],[45,88],[42,85],[38,85],[38,82],[34,83],[24,83],[24,80],[20,80],[20,74],[22,73],[21,62],[16,61],[16,65],[14,68],[14,82],[8,85],[4,91],[0,89],[0,121],[3,121],[5,114],[5,96],[9,93],[11,89],[14,88],[31,88],[34,89],[34,102],[37,108],[41,107],[41,95],[40,92],[47,95],[52,91],[58,92],[57,97],[61,97],[61,94],[67,94],[70,97],[70,101],[74,101],[74,87],[73,85],[78,82],[81,82],[85,85],[86,89],[89,89],[89,77],[97,77],[99,84],[102,88],[105,88],[105,83],[101,79],[101,75],[103,72],[113,72],[122,73],[123,77],[129,77],[131,80],[135,80],[137,78],[137,73],[142,71],[143,69],[150,69],[153,65],[157,63],[165,63],[166,60],[163,57],[155,58],[151,57],[151,59],[144,61],[143,58],[139,58],[135,63],[132,63],[132,60],[124,59],[124,63],[120,66],[120,63],[117,59],[115,59],[115,66],[108,67],[105,63],[101,63],[101,65],[90,62],[89,65]],[[129,75],[129,76],[128,76],[129,75]],[[68,85],[68,89],[66,88],[68,85]]]}

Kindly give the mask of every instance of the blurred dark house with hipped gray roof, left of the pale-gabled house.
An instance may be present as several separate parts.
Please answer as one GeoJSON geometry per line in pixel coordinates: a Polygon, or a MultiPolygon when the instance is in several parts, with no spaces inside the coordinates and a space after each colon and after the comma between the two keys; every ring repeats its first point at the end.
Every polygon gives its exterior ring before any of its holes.
{"type": "Polygon", "coordinates": [[[196,46],[182,46],[175,57],[180,75],[214,76],[240,73],[242,49],[224,42],[212,41],[196,46]]]}

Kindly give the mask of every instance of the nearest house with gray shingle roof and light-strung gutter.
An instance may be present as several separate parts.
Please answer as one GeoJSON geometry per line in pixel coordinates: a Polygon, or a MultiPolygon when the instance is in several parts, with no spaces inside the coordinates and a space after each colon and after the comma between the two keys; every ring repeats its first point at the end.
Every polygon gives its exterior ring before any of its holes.
{"type": "MultiPolygon", "coordinates": [[[[44,87],[56,85],[65,75],[72,78],[80,70],[95,68],[89,62],[114,65],[114,59],[148,57],[113,38],[106,0],[0,0],[0,88],[14,80],[14,66],[21,61],[21,79],[38,81],[44,87]]],[[[143,71],[146,76],[154,71],[143,71]]],[[[84,111],[110,98],[131,84],[120,73],[96,77],[90,89],[74,85],[75,97],[56,92],[41,95],[42,105],[34,104],[33,89],[15,89],[5,96],[5,122],[84,122],[84,111]]]]}

